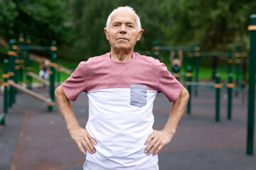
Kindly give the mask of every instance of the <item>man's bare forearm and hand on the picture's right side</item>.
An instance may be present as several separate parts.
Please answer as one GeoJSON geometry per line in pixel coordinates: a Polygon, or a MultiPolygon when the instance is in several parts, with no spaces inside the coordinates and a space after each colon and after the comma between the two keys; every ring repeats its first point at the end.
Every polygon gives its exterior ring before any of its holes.
{"type": "Polygon", "coordinates": [[[181,90],[181,94],[178,96],[176,101],[174,101],[169,119],[164,129],[154,130],[154,132],[152,132],[146,140],[145,145],[148,145],[146,146],[145,153],[147,155],[151,154],[152,152],[153,155],[158,154],[165,145],[171,142],[171,139],[174,137],[176,132],[178,123],[181,121],[183,113],[185,112],[188,98],[188,91],[183,88],[181,90]]]}

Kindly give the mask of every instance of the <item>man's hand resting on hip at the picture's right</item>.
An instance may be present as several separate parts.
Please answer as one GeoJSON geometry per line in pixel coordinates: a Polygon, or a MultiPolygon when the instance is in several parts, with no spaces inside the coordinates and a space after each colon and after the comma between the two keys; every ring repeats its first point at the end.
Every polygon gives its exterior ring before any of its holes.
{"type": "Polygon", "coordinates": [[[147,155],[153,153],[153,156],[158,154],[165,145],[171,142],[173,136],[165,130],[154,130],[145,142],[145,145],[148,144],[145,153],[147,155]]]}

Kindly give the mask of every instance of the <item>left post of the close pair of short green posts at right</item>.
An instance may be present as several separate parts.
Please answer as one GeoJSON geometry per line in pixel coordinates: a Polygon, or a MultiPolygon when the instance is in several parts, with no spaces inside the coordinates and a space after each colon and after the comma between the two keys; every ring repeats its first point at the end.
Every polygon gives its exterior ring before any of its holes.
{"type": "Polygon", "coordinates": [[[215,77],[215,121],[220,121],[220,88],[222,87],[220,84],[220,74],[216,74],[215,77]]]}

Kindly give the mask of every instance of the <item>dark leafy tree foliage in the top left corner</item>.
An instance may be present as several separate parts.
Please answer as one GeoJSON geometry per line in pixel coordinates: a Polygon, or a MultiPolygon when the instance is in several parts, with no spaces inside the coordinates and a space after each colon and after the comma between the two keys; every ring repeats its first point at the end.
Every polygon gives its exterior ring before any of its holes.
{"type": "Polygon", "coordinates": [[[65,5],[61,0],[0,0],[0,35],[8,40],[23,33],[41,45],[67,42],[71,32],[65,26],[65,5]]]}

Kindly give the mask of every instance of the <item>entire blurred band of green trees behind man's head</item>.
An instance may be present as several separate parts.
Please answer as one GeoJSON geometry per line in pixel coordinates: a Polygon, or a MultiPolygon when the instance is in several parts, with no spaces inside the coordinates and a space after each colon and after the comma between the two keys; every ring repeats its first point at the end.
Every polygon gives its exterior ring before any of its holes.
{"type": "Polygon", "coordinates": [[[5,42],[20,33],[30,35],[31,45],[56,40],[58,58],[79,62],[110,51],[103,28],[117,6],[132,6],[141,18],[144,35],[135,50],[162,46],[186,46],[201,42],[201,51],[227,51],[240,42],[249,48],[247,26],[255,12],[252,0],[1,0],[0,55],[7,57],[5,42]]]}

